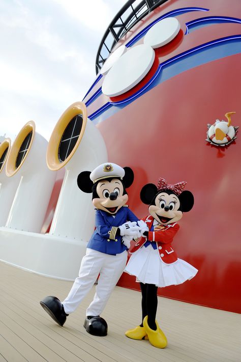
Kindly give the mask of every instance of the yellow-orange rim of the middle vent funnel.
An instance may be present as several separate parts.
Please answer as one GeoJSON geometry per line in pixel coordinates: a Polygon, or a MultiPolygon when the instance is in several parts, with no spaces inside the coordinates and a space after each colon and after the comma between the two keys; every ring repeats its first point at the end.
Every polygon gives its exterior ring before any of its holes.
{"type": "Polygon", "coordinates": [[[13,146],[12,146],[12,148],[10,150],[10,153],[9,153],[9,156],[8,156],[8,159],[7,159],[7,163],[6,163],[6,174],[7,174],[7,176],[11,177],[11,176],[15,175],[18,172],[18,170],[21,168],[21,166],[24,163],[29,151],[31,150],[31,147],[32,147],[32,144],[33,144],[33,141],[34,141],[34,137],[35,137],[35,123],[34,123],[34,121],[29,121],[19,131],[17,137],[15,138],[13,146]],[[25,140],[26,136],[30,132],[33,132],[32,137],[31,137],[31,141],[29,142],[28,149],[27,149],[21,163],[17,167],[16,166],[16,160],[17,160],[17,156],[18,156],[20,147],[22,146],[23,141],[25,140]]]}

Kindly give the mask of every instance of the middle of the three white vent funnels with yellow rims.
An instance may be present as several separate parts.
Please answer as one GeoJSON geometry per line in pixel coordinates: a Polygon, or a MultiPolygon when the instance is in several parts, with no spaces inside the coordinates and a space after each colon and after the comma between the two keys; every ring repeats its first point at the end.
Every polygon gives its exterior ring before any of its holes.
{"type": "Polygon", "coordinates": [[[35,132],[35,123],[27,122],[18,133],[10,150],[6,174],[19,174],[21,179],[8,216],[6,227],[40,232],[55,173],[48,170],[45,155],[48,142],[35,132]]]}

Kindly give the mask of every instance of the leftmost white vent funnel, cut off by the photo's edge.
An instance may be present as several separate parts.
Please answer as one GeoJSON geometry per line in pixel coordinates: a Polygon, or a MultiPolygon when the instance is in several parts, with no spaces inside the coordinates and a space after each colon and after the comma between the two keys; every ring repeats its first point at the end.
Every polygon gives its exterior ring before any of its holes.
{"type": "Polygon", "coordinates": [[[0,226],[5,226],[13,198],[19,183],[19,176],[12,178],[6,175],[6,162],[11,147],[10,138],[6,138],[0,145],[0,226]]]}

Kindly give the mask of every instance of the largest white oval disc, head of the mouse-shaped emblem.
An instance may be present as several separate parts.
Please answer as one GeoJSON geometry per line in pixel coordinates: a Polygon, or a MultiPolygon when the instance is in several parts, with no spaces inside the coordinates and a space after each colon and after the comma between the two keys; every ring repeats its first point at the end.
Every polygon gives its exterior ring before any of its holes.
{"type": "Polygon", "coordinates": [[[129,91],[148,73],[154,59],[155,51],[149,45],[134,46],[106,74],[102,92],[106,96],[115,97],[129,91]]]}

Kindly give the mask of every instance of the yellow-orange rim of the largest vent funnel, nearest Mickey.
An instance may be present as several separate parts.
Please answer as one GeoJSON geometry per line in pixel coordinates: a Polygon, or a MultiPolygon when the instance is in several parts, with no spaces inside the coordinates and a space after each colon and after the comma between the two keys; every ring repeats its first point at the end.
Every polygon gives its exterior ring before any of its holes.
{"type": "Polygon", "coordinates": [[[62,169],[73,157],[80,144],[80,141],[82,140],[86,123],[87,123],[87,109],[83,102],[75,102],[65,110],[61,118],[59,118],[58,122],[56,123],[49,140],[47,154],[46,154],[46,161],[49,170],[58,171],[62,169]],[[63,133],[65,132],[70,121],[79,114],[82,115],[83,123],[78,140],[73,150],[69,154],[69,156],[64,161],[60,161],[58,158],[58,149],[63,133]]]}

